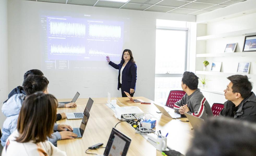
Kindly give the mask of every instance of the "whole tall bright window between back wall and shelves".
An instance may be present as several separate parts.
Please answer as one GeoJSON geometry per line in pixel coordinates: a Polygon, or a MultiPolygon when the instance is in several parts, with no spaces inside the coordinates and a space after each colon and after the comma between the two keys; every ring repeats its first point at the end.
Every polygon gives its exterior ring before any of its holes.
{"type": "Polygon", "coordinates": [[[166,103],[170,90],[182,90],[181,78],[187,65],[186,22],[157,20],[155,101],[166,103]],[[164,25],[164,23],[167,25],[164,25]],[[180,26],[180,27],[177,27],[180,26]]]}

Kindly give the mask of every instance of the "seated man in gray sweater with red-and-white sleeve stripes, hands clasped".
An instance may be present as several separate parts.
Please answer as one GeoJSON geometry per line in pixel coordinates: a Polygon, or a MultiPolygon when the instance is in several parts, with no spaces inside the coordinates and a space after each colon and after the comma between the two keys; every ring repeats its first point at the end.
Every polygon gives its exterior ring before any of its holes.
{"type": "Polygon", "coordinates": [[[181,87],[186,94],[174,104],[176,113],[186,112],[202,119],[213,116],[209,103],[197,86],[198,77],[193,72],[184,72],[181,87]]]}

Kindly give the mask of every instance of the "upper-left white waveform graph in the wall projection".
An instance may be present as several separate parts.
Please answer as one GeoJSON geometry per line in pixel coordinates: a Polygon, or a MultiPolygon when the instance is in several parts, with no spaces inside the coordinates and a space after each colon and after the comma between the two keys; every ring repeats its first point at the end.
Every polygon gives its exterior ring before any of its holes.
{"type": "Polygon", "coordinates": [[[82,23],[50,21],[50,34],[84,37],[86,35],[86,25],[82,23]]]}

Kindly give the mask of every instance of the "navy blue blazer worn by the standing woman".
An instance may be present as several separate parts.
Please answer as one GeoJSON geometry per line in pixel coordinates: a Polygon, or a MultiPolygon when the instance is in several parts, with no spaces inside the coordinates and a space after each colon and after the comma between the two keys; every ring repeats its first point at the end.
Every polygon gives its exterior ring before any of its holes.
{"type": "MultiPolygon", "coordinates": [[[[119,70],[118,85],[117,85],[117,89],[119,90],[119,88],[121,87],[120,70],[123,66],[123,63],[115,64],[110,61],[109,65],[119,70]]],[[[126,64],[122,72],[122,89],[121,90],[130,93],[130,88],[131,88],[131,89],[134,89],[135,91],[136,80],[137,80],[137,66],[135,63],[129,60],[129,62],[126,64]]]]}

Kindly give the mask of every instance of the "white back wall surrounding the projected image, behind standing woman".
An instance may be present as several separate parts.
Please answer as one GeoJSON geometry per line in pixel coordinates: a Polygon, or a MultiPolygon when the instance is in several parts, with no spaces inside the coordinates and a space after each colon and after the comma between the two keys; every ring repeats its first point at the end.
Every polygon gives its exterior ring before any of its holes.
{"type": "MultiPolygon", "coordinates": [[[[44,71],[40,62],[40,11],[94,13],[106,16],[130,17],[130,41],[124,47],[133,51],[138,66],[135,96],[154,99],[156,19],[195,22],[195,16],[146,12],[126,9],[100,8],[35,1],[8,1],[9,91],[21,85],[23,74],[40,69],[49,79],[50,93],[57,98],[72,98],[76,91],[80,98],[121,96],[117,90],[117,70],[107,74],[96,71],[44,71]]],[[[106,67],[108,64],[106,62],[106,67]]]]}

